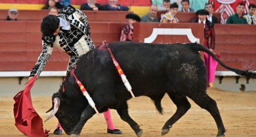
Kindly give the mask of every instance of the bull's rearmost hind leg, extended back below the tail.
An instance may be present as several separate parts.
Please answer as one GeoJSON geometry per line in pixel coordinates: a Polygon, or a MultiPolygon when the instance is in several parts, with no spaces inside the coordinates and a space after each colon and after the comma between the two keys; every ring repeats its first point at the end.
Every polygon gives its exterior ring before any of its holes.
{"type": "Polygon", "coordinates": [[[226,130],[223,125],[221,115],[219,114],[216,101],[209,97],[206,92],[200,94],[192,94],[188,97],[190,97],[197,105],[207,110],[212,115],[218,128],[217,137],[225,137],[224,133],[226,130]]]}

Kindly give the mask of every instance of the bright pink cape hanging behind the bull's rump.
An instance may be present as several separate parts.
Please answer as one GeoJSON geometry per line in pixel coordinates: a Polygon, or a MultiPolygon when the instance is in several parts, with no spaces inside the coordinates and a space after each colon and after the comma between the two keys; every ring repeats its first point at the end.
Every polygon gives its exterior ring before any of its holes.
{"type": "MultiPolygon", "coordinates": [[[[216,54],[217,58],[220,58],[221,55],[216,54]]],[[[212,84],[215,79],[215,70],[217,68],[218,62],[212,58],[209,54],[204,52],[204,63],[207,69],[207,87],[212,87],[212,84]]]]}

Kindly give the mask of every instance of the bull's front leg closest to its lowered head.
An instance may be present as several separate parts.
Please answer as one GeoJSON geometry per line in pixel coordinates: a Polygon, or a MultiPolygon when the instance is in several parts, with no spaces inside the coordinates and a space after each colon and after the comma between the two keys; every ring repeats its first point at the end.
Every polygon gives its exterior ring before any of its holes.
{"type": "Polygon", "coordinates": [[[77,123],[77,125],[75,126],[75,128],[73,129],[73,131],[71,132],[70,137],[77,137],[80,133],[81,130],[83,128],[83,126],[85,125],[85,123],[88,121],[88,119],[90,119],[94,114],[96,114],[95,110],[88,105],[85,110],[83,110],[82,114],[81,114],[81,118],[80,121],[77,123]]]}

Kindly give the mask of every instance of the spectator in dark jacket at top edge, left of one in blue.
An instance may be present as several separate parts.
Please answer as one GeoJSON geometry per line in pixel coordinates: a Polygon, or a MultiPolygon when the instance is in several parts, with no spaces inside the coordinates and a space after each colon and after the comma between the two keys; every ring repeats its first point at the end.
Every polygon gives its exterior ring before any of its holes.
{"type": "Polygon", "coordinates": [[[81,5],[81,10],[104,11],[107,7],[96,3],[96,0],[87,0],[87,3],[81,5]]]}

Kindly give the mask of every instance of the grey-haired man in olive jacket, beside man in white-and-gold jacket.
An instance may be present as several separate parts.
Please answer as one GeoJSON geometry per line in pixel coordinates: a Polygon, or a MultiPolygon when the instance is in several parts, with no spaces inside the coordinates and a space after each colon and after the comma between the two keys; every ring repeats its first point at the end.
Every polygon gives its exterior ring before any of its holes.
{"type": "Polygon", "coordinates": [[[157,18],[157,6],[151,5],[149,13],[141,17],[141,22],[159,22],[157,18]]]}

